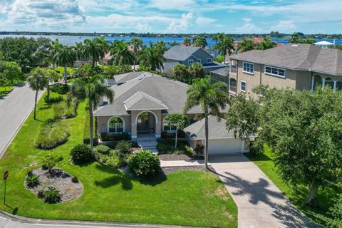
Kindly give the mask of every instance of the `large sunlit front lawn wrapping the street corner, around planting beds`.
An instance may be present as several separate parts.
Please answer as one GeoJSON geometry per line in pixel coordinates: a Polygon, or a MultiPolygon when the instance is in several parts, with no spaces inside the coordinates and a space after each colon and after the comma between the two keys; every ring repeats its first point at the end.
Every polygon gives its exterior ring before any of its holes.
{"type": "MultiPolygon", "coordinates": [[[[66,121],[71,136],[53,150],[34,147],[42,121],[53,117],[51,106],[38,103],[37,120],[31,115],[0,160],[0,173],[9,170],[6,205],[0,209],[24,217],[81,219],[111,222],[180,224],[201,227],[237,227],[237,207],[218,177],[205,172],[182,171],[164,179],[139,182],[123,172],[93,162],[71,165],[71,147],[82,142],[85,104],[78,116],[66,121]],[[58,167],[78,177],[83,195],[73,202],[43,203],[24,187],[27,167],[38,167],[47,154],[61,155],[58,167]]],[[[0,182],[0,195],[4,193],[0,182]]]]}

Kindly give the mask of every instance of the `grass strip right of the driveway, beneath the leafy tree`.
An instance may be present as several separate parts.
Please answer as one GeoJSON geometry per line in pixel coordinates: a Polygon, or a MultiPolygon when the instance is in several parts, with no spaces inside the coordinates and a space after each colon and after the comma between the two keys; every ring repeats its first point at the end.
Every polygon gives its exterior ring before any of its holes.
{"type": "MultiPolygon", "coordinates": [[[[318,208],[313,209],[304,205],[306,197],[308,194],[308,187],[304,185],[298,185],[293,187],[287,185],[281,180],[279,172],[276,171],[276,167],[273,162],[274,155],[269,149],[264,151],[264,154],[253,155],[246,154],[250,160],[252,160],[268,177],[274,184],[279,187],[279,189],[285,193],[286,197],[289,197],[291,202],[296,205],[302,212],[304,212],[308,217],[311,217],[316,222],[316,214],[323,214],[326,217],[330,217],[327,213],[328,208],[333,205],[333,197],[336,197],[338,192],[342,192],[342,187],[330,186],[324,189],[318,190],[318,208]]],[[[294,170],[295,172],[295,170],[294,170]]]]}

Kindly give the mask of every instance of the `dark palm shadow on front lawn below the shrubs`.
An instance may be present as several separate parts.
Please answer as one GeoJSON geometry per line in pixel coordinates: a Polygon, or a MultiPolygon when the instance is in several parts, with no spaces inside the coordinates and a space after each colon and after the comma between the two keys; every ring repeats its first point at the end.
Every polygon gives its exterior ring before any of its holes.
{"type": "Polygon", "coordinates": [[[113,174],[111,177],[106,177],[103,180],[95,180],[95,185],[102,188],[111,187],[113,185],[118,185],[121,183],[121,187],[124,190],[132,190],[132,178],[125,172],[122,172],[114,167],[109,167],[105,165],[96,164],[96,169],[113,174]]]}

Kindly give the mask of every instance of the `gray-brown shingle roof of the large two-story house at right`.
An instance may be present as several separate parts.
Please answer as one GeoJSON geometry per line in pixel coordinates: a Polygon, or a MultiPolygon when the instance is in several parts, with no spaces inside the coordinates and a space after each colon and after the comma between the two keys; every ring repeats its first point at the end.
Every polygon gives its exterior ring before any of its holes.
{"type": "Polygon", "coordinates": [[[342,50],[319,48],[311,44],[287,44],[264,51],[253,50],[230,56],[231,59],[296,70],[342,75],[342,50]]]}

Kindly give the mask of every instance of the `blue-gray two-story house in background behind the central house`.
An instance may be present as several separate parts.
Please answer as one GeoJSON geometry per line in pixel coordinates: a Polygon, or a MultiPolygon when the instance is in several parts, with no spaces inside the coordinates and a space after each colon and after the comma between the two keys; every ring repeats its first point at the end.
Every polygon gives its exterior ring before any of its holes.
{"type": "Polygon", "coordinates": [[[194,46],[173,46],[164,53],[164,73],[170,73],[177,64],[190,66],[192,63],[202,63],[204,70],[210,71],[224,68],[226,65],[214,62],[214,57],[201,47],[194,46]]]}

